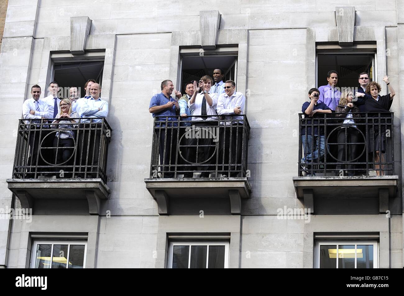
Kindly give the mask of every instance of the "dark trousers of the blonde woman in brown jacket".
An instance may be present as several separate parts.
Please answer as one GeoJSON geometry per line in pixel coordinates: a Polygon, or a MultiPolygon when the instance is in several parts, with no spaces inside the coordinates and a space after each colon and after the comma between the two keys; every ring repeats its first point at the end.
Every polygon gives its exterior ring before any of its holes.
{"type": "MultiPolygon", "coordinates": [[[[341,128],[338,131],[337,134],[337,141],[338,143],[343,143],[338,145],[338,160],[339,161],[352,161],[353,159],[356,159],[356,148],[357,144],[346,144],[345,146],[345,133],[346,133],[346,143],[357,143],[358,142],[358,131],[353,128],[353,127],[347,127],[347,128],[341,128]],[[345,153],[347,152],[347,153],[345,153]]],[[[343,169],[345,165],[339,164],[336,167],[336,173],[339,175],[340,170],[343,169]]],[[[353,176],[355,175],[355,171],[353,170],[355,168],[355,165],[348,164],[347,169],[348,173],[347,175],[353,176]]]]}

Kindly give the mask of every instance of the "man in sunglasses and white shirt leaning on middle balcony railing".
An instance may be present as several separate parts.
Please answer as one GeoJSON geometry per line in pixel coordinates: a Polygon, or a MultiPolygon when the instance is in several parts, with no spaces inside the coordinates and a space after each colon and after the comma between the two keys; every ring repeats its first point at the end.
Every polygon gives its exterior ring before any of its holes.
{"type": "MultiPolygon", "coordinates": [[[[219,164],[240,164],[231,165],[231,170],[241,170],[242,141],[243,141],[243,116],[228,116],[245,114],[246,97],[240,92],[236,92],[236,83],[233,80],[225,82],[225,93],[222,93],[217,100],[217,113],[224,119],[221,125],[226,125],[220,129],[219,142],[219,164]],[[240,126],[241,125],[241,126],[240,126]],[[231,131],[231,138],[230,138],[231,131]],[[229,151],[231,149],[231,159],[229,151]],[[224,159],[223,159],[224,151],[224,159]]],[[[230,172],[229,166],[224,166],[222,177],[237,177],[238,172],[230,172]],[[226,172],[227,171],[227,172],[226,172]]]]}

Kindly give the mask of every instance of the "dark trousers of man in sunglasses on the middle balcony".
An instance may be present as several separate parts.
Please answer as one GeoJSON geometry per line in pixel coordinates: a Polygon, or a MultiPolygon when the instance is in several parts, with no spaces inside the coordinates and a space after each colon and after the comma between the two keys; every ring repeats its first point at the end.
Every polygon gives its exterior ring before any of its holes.
{"type": "Polygon", "coordinates": [[[241,170],[243,127],[221,127],[219,141],[219,165],[221,165],[219,171],[220,169],[223,169],[223,171],[220,171],[222,174],[230,177],[237,177],[238,172],[229,173],[228,164],[230,161],[230,170],[241,170]]]}

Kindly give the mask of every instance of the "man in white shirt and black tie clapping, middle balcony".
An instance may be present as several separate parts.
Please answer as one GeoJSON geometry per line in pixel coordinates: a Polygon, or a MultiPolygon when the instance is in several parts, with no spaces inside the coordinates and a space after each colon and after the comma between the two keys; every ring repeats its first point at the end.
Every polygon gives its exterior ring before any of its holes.
{"type": "MultiPolygon", "coordinates": [[[[203,129],[207,128],[206,130],[212,130],[214,126],[217,126],[217,113],[216,113],[216,105],[217,105],[217,93],[211,92],[210,88],[212,86],[212,77],[209,75],[202,76],[199,81],[199,84],[196,84],[194,81],[194,94],[192,95],[191,99],[189,100],[189,108],[194,110],[193,116],[201,116],[201,115],[210,115],[210,116],[203,116],[203,117],[192,117],[192,128],[196,129],[203,129]],[[199,89],[201,89],[201,93],[198,93],[199,89]]],[[[196,133],[195,133],[196,134],[196,133]]],[[[202,146],[198,147],[198,163],[201,164],[197,166],[197,170],[201,171],[200,177],[201,178],[208,178],[210,171],[214,168],[212,166],[206,166],[211,164],[212,161],[215,159],[213,156],[209,161],[207,159],[212,156],[213,152],[215,151],[215,142],[213,142],[213,135],[212,133],[198,133],[199,135],[204,135],[202,138],[194,139],[194,145],[198,143],[198,145],[210,145],[210,146],[202,146]],[[206,162],[205,162],[206,161],[206,162]]],[[[191,149],[191,148],[189,148],[191,149]]],[[[191,152],[191,154],[193,154],[191,152]]],[[[194,154],[196,155],[196,153],[194,154]]],[[[188,159],[188,158],[187,158],[188,159]]],[[[194,161],[196,162],[196,161],[194,161]]]]}

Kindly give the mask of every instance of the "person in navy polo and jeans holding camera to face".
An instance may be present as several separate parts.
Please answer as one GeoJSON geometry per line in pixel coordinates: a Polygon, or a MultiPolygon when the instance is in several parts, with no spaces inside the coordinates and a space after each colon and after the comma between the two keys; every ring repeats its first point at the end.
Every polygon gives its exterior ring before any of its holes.
{"type": "MultiPolygon", "coordinates": [[[[316,88],[309,90],[309,102],[303,103],[302,112],[305,114],[304,118],[324,118],[323,113],[332,113],[331,109],[324,103],[318,103],[320,91],[316,88]]],[[[301,129],[301,139],[303,144],[304,157],[301,159],[302,164],[319,163],[324,157],[325,136],[324,127],[318,128],[320,124],[324,124],[324,120],[314,120],[314,129],[311,129],[311,119],[305,120],[303,123],[307,124],[306,128],[303,126],[301,129]]]]}

